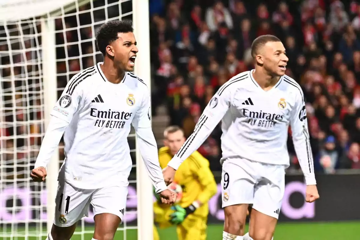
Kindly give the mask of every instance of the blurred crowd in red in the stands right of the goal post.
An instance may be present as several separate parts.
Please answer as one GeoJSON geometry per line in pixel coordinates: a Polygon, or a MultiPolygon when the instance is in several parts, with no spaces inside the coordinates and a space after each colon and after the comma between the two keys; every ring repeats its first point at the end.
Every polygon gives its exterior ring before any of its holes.
{"type": "MultiPolygon", "coordinates": [[[[153,107],[166,100],[186,137],[213,94],[253,68],[252,41],[283,41],[301,86],[318,172],[360,169],[360,5],[356,1],[161,1],[150,4],[153,107]],[[153,85],[153,86],[154,86],[153,85]]],[[[155,108],[153,108],[155,109],[155,108]]],[[[199,151],[219,170],[219,126],[199,151]],[[216,164],[213,164],[213,162],[216,164]]],[[[291,167],[300,168],[289,130],[291,167]]]]}

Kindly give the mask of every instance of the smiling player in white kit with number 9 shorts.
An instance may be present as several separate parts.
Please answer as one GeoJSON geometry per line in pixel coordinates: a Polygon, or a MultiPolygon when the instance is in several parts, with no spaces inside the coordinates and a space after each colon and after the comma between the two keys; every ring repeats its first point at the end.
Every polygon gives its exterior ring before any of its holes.
{"type": "Polygon", "coordinates": [[[271,240],[289,166],[288,127],[306,181],[306,201],[319,198],[314,175],[304,95],[285,75],[288,58],[282,42],[263,35],[251,46],[255,69],[226,82],[205,108],[193,134],[163,170],[167,183],[181,162],[222,120],[223,240],[271,240]],[[253,204],[244,235],[248,204],[253,204]]]}

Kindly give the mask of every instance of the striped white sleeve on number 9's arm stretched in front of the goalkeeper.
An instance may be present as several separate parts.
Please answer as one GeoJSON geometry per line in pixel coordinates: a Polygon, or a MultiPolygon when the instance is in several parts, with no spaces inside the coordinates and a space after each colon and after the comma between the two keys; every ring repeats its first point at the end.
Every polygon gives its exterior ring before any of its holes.
{"type": "Polygon", "coordinates": [[[231,99],[231,82],[237,81],[236,78],[229,80],[222,85],[216,94],[212,97],[207,104],[204,112],[201,114],[199,121],[197,122],[194,132],[185,141],[180,150],[176,153],[174,158],[167,164],[167,166],[179,168],[180,164],[188,158],[195,150],[201,146],[201,144],[207,139],[216,125],[220,122],[222,117],[228,111],[230,107],[231,99]],[[230,87],[228,87],[230,86],[230,87]]]}

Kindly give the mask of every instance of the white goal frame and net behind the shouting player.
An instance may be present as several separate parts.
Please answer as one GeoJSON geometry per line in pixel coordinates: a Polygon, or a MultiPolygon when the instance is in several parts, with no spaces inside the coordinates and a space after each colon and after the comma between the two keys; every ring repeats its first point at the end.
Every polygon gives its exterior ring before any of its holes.
{"type": "MultiPolygon", "coordinates": [[[[55,196],[57,192],[57,175],[59,170],[59,165],[62,162],[62,159],[59,157],[58,151],[53,155],[50,163],[48,165],[48,176],[46,177],[46,184],[35,184],[30,180],[29,170],[33,167],[33,161],[36,159],[36,156],[33,154],[36,153],[39,149],[39,146],[34,146],[32,143],[33,139],[36,137],[43,137],[46,127],[49,123],[50,111],[53,108],[55,102],[58,99],[58,93],[61,87],[58,86],[58,77],[71,78],[69,75],[69,69],[71,66],[69,61],[75,59],[75,61],[80,62],[80,70],[84,69],[82,62],[84,59],[91,62],[91,60],[96,63],[98,62],[99,52],[95,50],[95,31],[100,24],[113,20],[121,19],[122,17],[130,17],[132,15],[132,21],[134,26],[134,34],[138,42],[139,54],[136,58],[135,65],[135,74],[138,75],[144,82],[147,84],[150,90],[150,42],[149,42],[149,0],[1,0],[0,1],[0,238],[10,237],[10,239],[28,239],[28,237],[37,237],[37,239],[42,239],[46,236],[46,232],[49,232],[53,224],[54,219],[54,209],[55,209],[55,196]],[[98,6],[97,4],[101,2],[103,5],[98,6]],[[122,6],[124,4],[132,6],[132,11],[123,12],[122,6]],[[83,6],[90,6],[89,9],[83,9],[83,6]],[[111,15],[109,9],[116,8],[118,9],[118,15],[111,15]],[[95,11],[103,11],[105,16],[104,20],[96,21],[94,18],[95,11]],[[91,23],[83,26],[91,29],[92,37],[90,39],[81,40],[81,31],[80,26],[68,28],[65,23],[65,18],[75,17],[77,23],[81,21],[79,17],[80,13],[89,13],[91,15],[91,23]],[[109,13],[108,13],[109,12],[109,13]],[[61,19],[61,24],[63,25],[63,30],[57,30],[56,24],[57,20],[61,19]],[[23,33],[24,26],[31,25],[32,31],[23,33]],[[38,32],[39,31],[39,32],[38,32]],[[78,42],[72,43],[67,42],[66,31],[77,32],[78,42]],[[55,34],[62,33],[64,36],[64,43],[57,44],[55,34]],[[28,39],[31,39],[30,46],[27,46],[28,39]],[[82,48],[82,44],[89,42],[92,45],[89,48],[89,52],[85,51],[82,48]],[[19,45],[17,49],[12,49],[13,44],[19,45]],[[67,53],[67,47],[70,45],[78,45],[79,55],[77,57],[69,56],[67,53]],[[61,46],[65,49],[65,58],[66,70],[65,73],[59,73],[57,63],[62,61],[57,57],[57,49],[61,46]],[[30,49],[30,50],[28,50],[30,49]],[[28,51],[32,51],[33,56],[31,59],[27,59],[26,54],[28,51]],[[19,55],[19,59],[14,61],[15,55],[19,55]],[[5,57],[4,57],[5,56],[5,57]],[[9,59],[9,62],[1,62],[4,58],[9,59]],[[40,60],[41,59],[41,60],[40,60]],[[34,65],[36,65],[34,67],[34,65]],[[29,67],[32,66],[32,67],[29,67]],[[18,72],[17,67],[21,68],[18,72]],[[4,72],[10,71],[6,74],[4,72]],[[39,78],[38,83],[34,83],[37,80],[34,78],[39,78]],[[31,83],[29,83],[31,79],[31,83]],[[18,86],[17,81],[25,81],[26,86],[18,86]],[[31,85],[29,88],[27,85],[31,85]],[[9,87],[6,87],[9,86],[9,87]],[[19,93],[20,90],[23,90],[25,93],[19,93]],[[30,90],[29,90],[30,89],[30,90]],[[36,92],[33,91],[36,89],[36,92]],[[20,99],[20,100],[19,100],[20,99]],[[31,100],[29,100],[31,99],[31,100]],[[18,100],[27,102],[27,104],[20,104],[21,107],[18,107],[18,100]],[[39,112],[41,117],[31,117],[35,107],[29,106],[29,101],[38,101],[39,106],[36,108],[41,109],[39,112]],[[14,127],[17,124],[16,116],[18,109],[24,111],[24,126],[28,128],[25,133],[17,132],[14,130],[13,135],[6,133],[6,129],[10,128],[9,126],[14,127]],[[10,116],[11,115],[11,116],[10,116]],[[6,119],[7,117],[13,117],[13,122],[10,122],[6,119]],[[39,124],[43,126],[39,132],[31,130],[33,125],[39,124]],[[19,148],[16,144],[19,136],[24,136],[25,141],[30,143],[24,144],[19,148]],[[7,148],[7,144],[12,142],[12,148],[7,148]],[[34,150],[35,148],[35,150],[34,150]],[[24,152],[24,157],[22,164],[25,166],[24,170],[17,170],[18,168],[13,167],[12,172],[7,172],[9,166],[17,166],[17,162],[20,162],[18,157],[19,153],[24,152]],[[13,154],[11,160],[8,155],[13,154]],[[10,164],[11,161],[11,164],[10,164]],[[32,162],[32,163],[30,163],[32,162]],[[21,177],[19,176],[21,173],[21,177]],[[11,177],[9,177],[11,175],[11,177]],[[21,182],[21,184],[19,183],[21,182]],[[6,204],[1,205],[1,191],[5,188],[8,189],[12,187],[14,189],[13,195],[13,204],[12,209],[6,207],[6,204]],[[36,198],[39,199],[41,207],[35,206],[36,203],[33,203],[33,200],[29,200],[29,211],[39,211],[40,215],[36,215],[39,219],[35,219],[31,224],[29,216],[17,220],[14,218],[15,212],[21,210],[23,207],[19,207],[16,203],[16,197],[18,196],[18,189],[37,189],[31,190],[28,193],[30,195],[41,195],[42,191],[46,189],[46,200],[42,200],[41,196],[36,198]],[[45,204],[44,204],[45,203],[45,204]],[[46,210],[46,215],[44,211],[46,210]],[[12,212],[13,218],[11,220],[8,217],[8,220],[2,218],[1,212],[5,211],[12,212]],[[41,220],[41,216],[46,216],[46,219],[41,220]],[[46,222],[46,229],[42,227],[42,223],[46,222]],[[18,224],[15,226],[15,224],[18,224]],[[20,226],[21,227],[18,227],[20,226]],[[31,225],[31,226],[30,226],[31,225]],[[11,226],[11,227],[9,227],[11,226]],[[3,227],[3,229],[1,229],[3,227]],[[6,230],[6,228],[8,230],[6,230]],[[32,230],[35,229],[36,230],[32,230]],[[19,233],[22,232],[22,233],[19,233]],[[44,235],[45,234],[45,235],[44,235]]],[[[79,24],[80,25],[80,24],[79,24]]],[[[71,70],[73,71],[73,70],[71,70]]],[[[71,74],[75,74],[72,72],[71,74]]],[[[21,123],[22,124],[22,123],[21,123]]],[[[134,137],[132,132],[130,137],[134,137]]],[[[11,145],[11,144],[10,144],[11,145]]],[[[39,145],[39,144],[37,144],[39,145]]],[[[61,148],[60,148],[61,149],[61,148]]],[[[127,239],[128,229],[137,229],[137,235],[139,240],[152,240],[153,239],[153,190],[152,184],[149,180],[147,171],[145,169],[143,160],[141,159],[139,149],[136,145],[136,150],[132,150],[136,153],[136,164],[133,167],[136,167],[136,180],[130,181],[133,186],[136,184],[136,197],[137,204],[132,203],[132,208],[136,208],[136,211],[132,211],[131,214],[137,214],[137,227],[127,226],[126,221],[123,223],[124,230],[124,239],[127,239]]],[[[23,155],[22,155],[23,156],[23,155]]],[[[44,191],[45,192],[45,191],[44,191]]],[[[129,193],[130,194],[130,193],[129,193]]],[[[6,196],[3,196],[5,199],[6,196]]],[[[8,200],[8,199],[5,199],[8,200]]],[[[4,200],[4,201],[5,201],[4,200]]],[[[37,202],[37,201],[35,201],[37,202]]],[[[125,215],[125,214],[124,214],[125,215]]],[[[134,218],[136,219],[136,217],[134,218]]],[[[85,234],[90,234],[90,231],[87,231],[84,221],[80,223],[81,239],[87,239],[85,234]]],[[[131,238],[133,239],[133,238],[131,238]]]]}

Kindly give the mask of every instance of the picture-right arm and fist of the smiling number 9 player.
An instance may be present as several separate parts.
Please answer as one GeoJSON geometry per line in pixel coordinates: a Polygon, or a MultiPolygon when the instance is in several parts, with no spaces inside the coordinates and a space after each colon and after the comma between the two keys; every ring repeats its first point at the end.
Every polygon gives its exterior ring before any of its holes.
{"type": "Polygon", "coordinates": [[[301,90],[296,95],[296,105],[291,112],[290,125],[294,148],[307,185],[306,201],[312,202],[319,198],[319,194],[316,188],[314,161],[307,127],[304,95],[301,90]]]}

